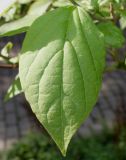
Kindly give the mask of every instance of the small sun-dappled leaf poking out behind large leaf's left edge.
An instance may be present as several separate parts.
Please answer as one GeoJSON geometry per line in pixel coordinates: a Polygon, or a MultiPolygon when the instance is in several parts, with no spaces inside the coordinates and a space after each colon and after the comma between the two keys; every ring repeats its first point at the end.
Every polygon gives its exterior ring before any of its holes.
{"type": "Polygon", "coordinates": [[[14,96],[16,96],[20,93],[22,93],[22,88],[21,88],[19,76],[17,75],[15,80],[12,82],[11,86],[8,89],[8,91],[4,97],[4,101],[10,100],[11,98],[13,98],[14,96]]]}

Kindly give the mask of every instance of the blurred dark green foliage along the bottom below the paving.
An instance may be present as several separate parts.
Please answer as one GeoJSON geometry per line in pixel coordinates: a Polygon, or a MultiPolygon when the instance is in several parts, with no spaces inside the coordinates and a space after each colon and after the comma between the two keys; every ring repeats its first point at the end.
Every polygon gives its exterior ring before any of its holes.
{"type": "MultiPolygon", "coordinates": [[[[1,154],[2,158],[2,154],[1,154]]],[[[54,142],[41,134],[29,134],[4,154],[5,160],[125,160],[126,129],[120,135],[104,132],[92,137],[74,137],[65,158],[54,142]]]]}

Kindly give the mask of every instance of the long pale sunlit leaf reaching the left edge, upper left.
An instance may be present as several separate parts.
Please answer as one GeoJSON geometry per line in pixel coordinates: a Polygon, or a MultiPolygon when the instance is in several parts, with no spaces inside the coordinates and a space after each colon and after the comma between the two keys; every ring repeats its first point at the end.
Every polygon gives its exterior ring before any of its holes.
{"type": "Polygon", "coordinates": [[[34,2],[26,16],[0,26],[0,36],[12,36],[26,32],[35,19],[45,13],[50,3],[51,0],[38,0],[34,2]]]}

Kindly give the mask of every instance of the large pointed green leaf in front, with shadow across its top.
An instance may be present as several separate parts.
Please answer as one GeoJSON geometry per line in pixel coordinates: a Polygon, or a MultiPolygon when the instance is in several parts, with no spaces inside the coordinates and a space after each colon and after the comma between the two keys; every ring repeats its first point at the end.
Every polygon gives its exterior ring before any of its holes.
{"type": "Polygon", "coordinates": [[[27,33],[19,59],[21,85],[63,155],[96,103],[104,51],[101,33],[82,8],[48,12],[27,33]]]}

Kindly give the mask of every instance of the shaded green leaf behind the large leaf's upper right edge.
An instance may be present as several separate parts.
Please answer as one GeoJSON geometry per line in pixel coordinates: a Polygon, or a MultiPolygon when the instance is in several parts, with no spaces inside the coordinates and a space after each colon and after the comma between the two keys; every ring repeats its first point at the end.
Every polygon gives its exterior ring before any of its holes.
{"type": "Polygon", "coordinates": [[[98,28],[104,34],[107,47],[122,47],[125,41],[123,33],[112,22],[102,22],[98,24],[98,28]]]}

